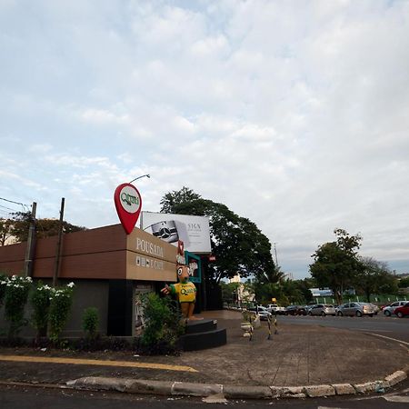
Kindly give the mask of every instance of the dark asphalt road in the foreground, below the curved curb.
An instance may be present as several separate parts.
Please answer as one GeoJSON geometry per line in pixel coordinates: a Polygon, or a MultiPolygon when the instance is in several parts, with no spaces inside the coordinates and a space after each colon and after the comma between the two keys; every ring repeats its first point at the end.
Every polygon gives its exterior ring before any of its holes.
{"type": "MultiPolygon", "coordinates": [[[[330,396],[317,399],[286,399],[244,401],[231,400],[214,402],[212,409],[236,407],[237,409],[406,409],[409,404],[409,388],[390,394],[375,396],[330,396]]],[[[52,389],[44,387],[0,385],[0,407],[2,409],[195,409],[209,407],[202,399],[145,396],[133,394],[98,393],[52,389]]]]}

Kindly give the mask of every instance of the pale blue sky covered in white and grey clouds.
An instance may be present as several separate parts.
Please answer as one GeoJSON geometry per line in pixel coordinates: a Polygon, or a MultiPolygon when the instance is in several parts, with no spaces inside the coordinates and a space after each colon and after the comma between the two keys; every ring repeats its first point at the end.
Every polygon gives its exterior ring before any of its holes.
{"type": "Polygon", "coordinates": [[[0,197],[37,217],[117,224],[149,174],[143,210],[189,187],[294,278],[338,227],[409,272],[408,1],[1,0],[0,62],[0,197]]]}

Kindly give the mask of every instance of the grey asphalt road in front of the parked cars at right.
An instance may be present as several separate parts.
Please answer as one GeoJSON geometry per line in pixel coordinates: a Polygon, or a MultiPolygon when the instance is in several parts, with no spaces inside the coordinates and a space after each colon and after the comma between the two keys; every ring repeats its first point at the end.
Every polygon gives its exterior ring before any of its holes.
{"type": "Polygon", "coordinates": [[[409,346],[409,318],[386,317],[382,314],[374,317],[277,315],[277,321],[278,324],[317,324],[378,334],[408,343],[409,346]]]}

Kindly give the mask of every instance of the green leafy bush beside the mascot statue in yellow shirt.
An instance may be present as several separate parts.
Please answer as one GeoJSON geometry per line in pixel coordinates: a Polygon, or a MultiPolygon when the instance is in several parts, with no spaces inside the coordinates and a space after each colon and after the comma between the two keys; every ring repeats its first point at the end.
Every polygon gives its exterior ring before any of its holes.
{"type": "Polygon", "coordinates": [[[185,332],[178,304],[155,293],[146,294],[143,304],[145,331],[141,337],[141,346],[151,354],[175,353],[177,341],[185,332]]]}

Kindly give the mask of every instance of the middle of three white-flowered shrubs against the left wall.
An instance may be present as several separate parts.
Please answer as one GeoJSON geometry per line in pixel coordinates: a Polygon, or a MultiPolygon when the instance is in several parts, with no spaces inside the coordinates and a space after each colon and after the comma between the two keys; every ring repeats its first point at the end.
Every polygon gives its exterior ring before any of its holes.
{"type": "Polygon", "coordinates": [[[47,334],[48,317],[50,313],[51,296],[53,288],[43,284],[41,281],[31,293],[30,301],[33,305],[32,325],[37,331],[37,339],[47,334]]]}

